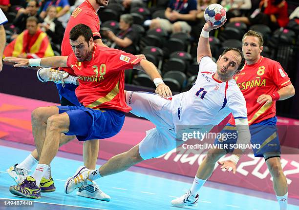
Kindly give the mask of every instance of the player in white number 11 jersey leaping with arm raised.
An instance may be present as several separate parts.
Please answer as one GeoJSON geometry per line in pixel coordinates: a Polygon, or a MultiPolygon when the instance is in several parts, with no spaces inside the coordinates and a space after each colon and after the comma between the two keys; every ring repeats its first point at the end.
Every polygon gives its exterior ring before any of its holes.
{"type": "MultiPolygon", "coordinates": [[[[128,152],[112,157],[99,169],[79,168],[76,174],[65,182],[66,193],[84,186],[87,179],[95,180],[122,172],[136,163],[176,148],[177,125],[196,125],[209,131],[213,125],[221,122],[232,112],[237,121],[238,142],[241,139],[245,142],[250,141],[245,99],[233,79],[244,65],[242,52],[229,48],[223,52],[217,63],[214,63],[211,58],[208,31],[223,24],[212,26],[211,23],[206,23],[203,28],[197,48],[199,73],[191,90],[168,98],[161,98],[159,95],[147,92],[126,92],[127,103],[132,107],[131,112],[149,119],[156,127],[147,131],[146,137],[138,145],[128,152]]],[[[157,85],[161,82],[162,79],[155,83],[157,85]]],[[[223,163],[222,169],[235,172],[235,159],[238,158],[236,152],[243,151],[235,150],[232,158],[223,163]]],[[[194,198],[192,202],[196,203],[197,199],[194,198]]]]}

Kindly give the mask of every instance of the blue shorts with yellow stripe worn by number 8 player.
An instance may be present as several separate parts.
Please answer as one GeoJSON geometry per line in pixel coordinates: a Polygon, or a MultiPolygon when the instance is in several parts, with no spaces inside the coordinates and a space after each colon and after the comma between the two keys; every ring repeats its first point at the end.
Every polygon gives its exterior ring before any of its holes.
{"type": "MultiPolygon", "coordinates": [[[[251,144],[260,145],[260,148],[253,148],[254,154],[256,157],[263,157],[264,153],[268,152],[278,152],[280,154],[280,142],[278,139],[277,128],[276,128],[277,117],[272,117],[256,124],[252,124],[249,126],[250,134],[251,134],[251,144]]],[[[226,133],[228,136],[232,136],[231,138],[226,138],[223,141],[223,137],[221,139],[216,138],[214,144],[227,144],[226,152],[232,153],[234,149],[230,145],[233,145],[237,141],[237,133],[235,130],[235,126],[231,124],[227,124],[221,134],[226,133]]]]}

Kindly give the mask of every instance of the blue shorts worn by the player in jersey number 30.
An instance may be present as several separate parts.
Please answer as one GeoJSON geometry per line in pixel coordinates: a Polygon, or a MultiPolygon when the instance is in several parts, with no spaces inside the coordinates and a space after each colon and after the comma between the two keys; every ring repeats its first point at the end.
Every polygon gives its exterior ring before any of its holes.
{"type": "Polygon", "coordinates": [[[69,130],[79,141],[110,138],[120,132],[125,113],[117,110],[95,110],[81,106],[57,106],[59,114],[69,116],[69,130]]]}

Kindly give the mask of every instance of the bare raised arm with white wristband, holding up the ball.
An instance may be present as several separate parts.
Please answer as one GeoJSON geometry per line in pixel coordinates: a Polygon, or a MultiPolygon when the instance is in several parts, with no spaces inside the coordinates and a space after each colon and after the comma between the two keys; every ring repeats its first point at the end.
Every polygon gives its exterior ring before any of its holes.
{"type": "Polygon", "coordinates": [[[220,28],[224,25],[226,22],[226,19],[217,26],[213,26],[211,22],[206,22],[204,27],[202,28],[198,45],[197,45],[197,62],[199,63],[201,58],[204,56],[212,57],[211,48],[210,48],[210,41],[209,41],[209,32],[220,28]]]}

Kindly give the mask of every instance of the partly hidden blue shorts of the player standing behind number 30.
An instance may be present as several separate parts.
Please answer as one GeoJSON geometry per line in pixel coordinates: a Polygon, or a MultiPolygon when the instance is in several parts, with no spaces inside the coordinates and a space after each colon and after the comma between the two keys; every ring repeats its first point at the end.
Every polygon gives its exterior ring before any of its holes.
{"type": "MultiPolygon", "coordinates": [[[[80,106],[81,104],[78,101],[78,98],[75,94],[75,90],[78,87],[77,85],[72,85],[72,84],[64,84],[64,87],[62,84],[56,84],[58,94],[60,97],[60,101],[62,101],[62,97],[67,99],[69,102],[71,102],[74,106],[80,106]]],[[[66,105],[66,104],[61,104],[61,105],[66,105]]],[[[67,104],[69,105],[69,104],[67,104]]]]}

